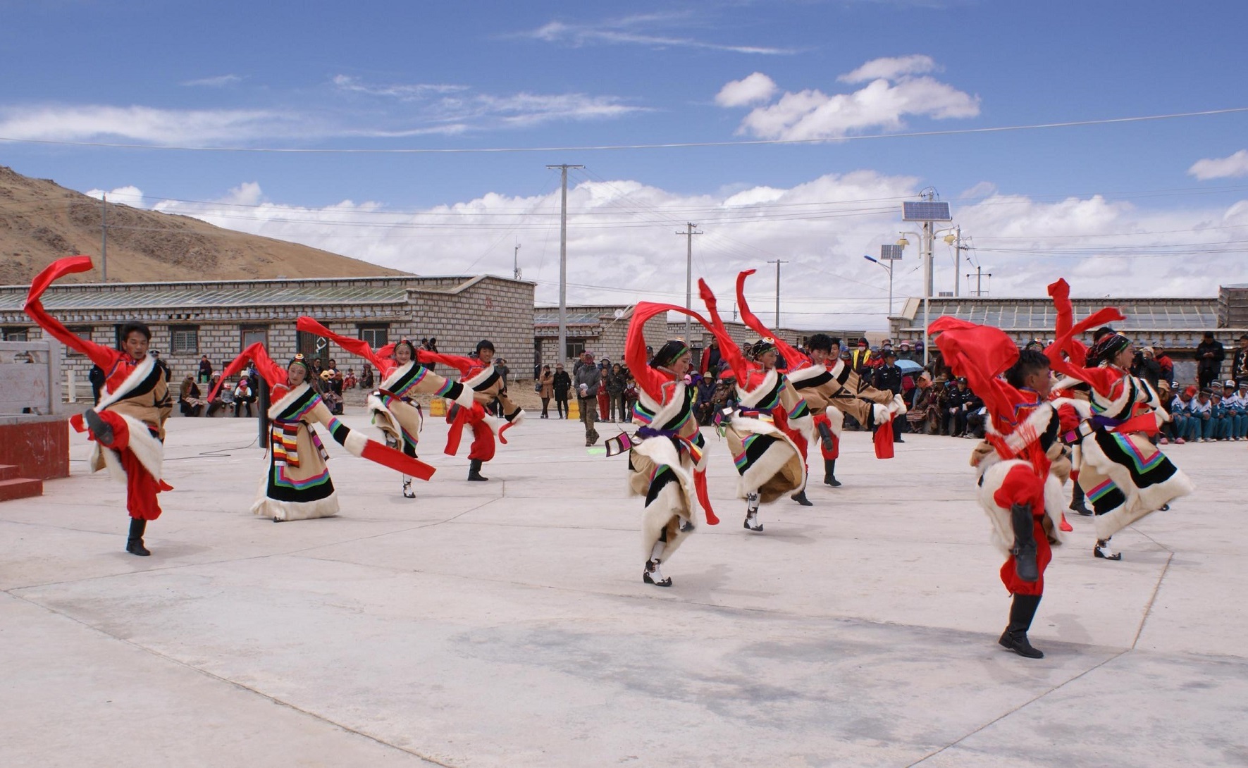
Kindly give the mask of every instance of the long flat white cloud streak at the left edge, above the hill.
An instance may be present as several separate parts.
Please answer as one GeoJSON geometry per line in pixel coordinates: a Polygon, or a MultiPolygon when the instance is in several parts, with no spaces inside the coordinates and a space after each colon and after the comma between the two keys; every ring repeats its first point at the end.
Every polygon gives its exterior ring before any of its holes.
{"type": "Polygon", "coordinates": [[[146,106],[0,107],[0,136],[56,141],[121,137],[152,144],[307,135],[306,119],[266,110],[162,110],[146,106]]]}

